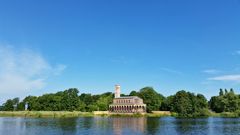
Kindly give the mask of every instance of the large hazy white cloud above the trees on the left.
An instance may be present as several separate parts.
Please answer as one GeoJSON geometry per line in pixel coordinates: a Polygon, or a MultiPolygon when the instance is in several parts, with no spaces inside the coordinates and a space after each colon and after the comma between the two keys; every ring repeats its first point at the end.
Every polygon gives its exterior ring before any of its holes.
{"type": "Polygon", "coordinates": [[[29,49],[0,45],[0,98],[26,96],[27,92],[46,86],[46,79],[59,75],[65,65],[51,65],[29,49]]]}

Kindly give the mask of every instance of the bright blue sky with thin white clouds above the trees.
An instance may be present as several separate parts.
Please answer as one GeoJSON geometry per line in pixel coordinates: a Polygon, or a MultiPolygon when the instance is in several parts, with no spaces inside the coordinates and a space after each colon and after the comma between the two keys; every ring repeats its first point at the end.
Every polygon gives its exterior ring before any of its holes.
{"type": "Polygon", "coordinates": [[[0,0],[0,103],[78,88],[240,93],[240,0],[0,0]]]}

